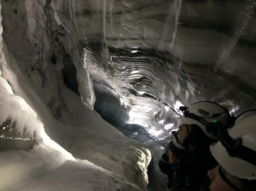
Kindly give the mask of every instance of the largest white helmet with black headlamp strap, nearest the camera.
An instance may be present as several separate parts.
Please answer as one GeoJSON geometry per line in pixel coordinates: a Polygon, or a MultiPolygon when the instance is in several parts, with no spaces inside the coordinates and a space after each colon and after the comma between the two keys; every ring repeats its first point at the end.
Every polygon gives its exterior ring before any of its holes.
{"type": "Polygon", "coordinates": [[[247,116],[221,134],[210,146],[217,162],[231,175],[256,180],[256,114],[247,116]]]}

